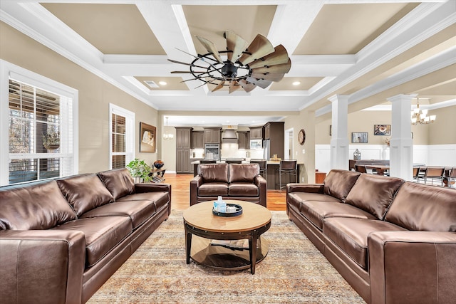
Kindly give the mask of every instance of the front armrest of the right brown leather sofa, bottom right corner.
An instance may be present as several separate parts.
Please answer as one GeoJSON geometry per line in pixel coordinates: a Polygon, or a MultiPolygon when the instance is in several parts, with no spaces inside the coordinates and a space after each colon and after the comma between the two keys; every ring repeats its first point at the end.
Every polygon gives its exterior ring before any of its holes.
{"type": "Polygon", "coordinates": [[[372,303],[452,303],[456,234],[385,231],[368,236],[372,303]]]}

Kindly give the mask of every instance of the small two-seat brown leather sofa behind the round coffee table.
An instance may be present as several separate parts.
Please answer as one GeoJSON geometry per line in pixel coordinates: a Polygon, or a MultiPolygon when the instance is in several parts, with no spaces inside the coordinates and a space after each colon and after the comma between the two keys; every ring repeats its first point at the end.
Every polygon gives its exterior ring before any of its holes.
{"type": "Polygon", "coordinates": [[[197,176],[190,181],[190,205],[222,196],[266,207],[266,194],[259,164],[199,164],[197,176]]]}

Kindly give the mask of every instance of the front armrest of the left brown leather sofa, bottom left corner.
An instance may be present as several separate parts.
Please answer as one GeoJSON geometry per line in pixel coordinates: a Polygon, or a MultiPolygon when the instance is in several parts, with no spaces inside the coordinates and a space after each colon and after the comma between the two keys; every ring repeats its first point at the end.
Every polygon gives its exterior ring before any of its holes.
{"type": "Polygon", "coordinates": [[[82,231],[0,231],[2,303],[81,303],[82,231]]]}

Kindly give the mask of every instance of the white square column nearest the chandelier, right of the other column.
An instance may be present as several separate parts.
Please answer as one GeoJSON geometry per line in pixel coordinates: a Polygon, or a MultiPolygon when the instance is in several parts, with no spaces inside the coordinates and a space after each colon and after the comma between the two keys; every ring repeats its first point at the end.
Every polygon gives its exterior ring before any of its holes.
{"type": "Polygon", "coordinates": [[[391,102],[390,176],[413,180],[411,100],[416,95],[395,95],[391,102]]]}

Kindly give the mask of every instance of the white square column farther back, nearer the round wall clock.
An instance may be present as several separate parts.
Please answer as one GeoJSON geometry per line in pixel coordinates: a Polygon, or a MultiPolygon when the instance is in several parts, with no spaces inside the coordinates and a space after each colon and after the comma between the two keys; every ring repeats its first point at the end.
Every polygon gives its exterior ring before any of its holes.
{"type": "Polygon", "coordinates": [[[348,169],[348,95],[333,95],[331,169],[348,169]]]}

